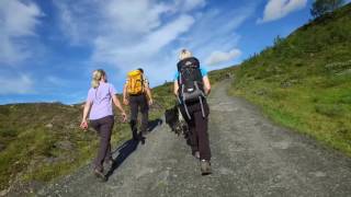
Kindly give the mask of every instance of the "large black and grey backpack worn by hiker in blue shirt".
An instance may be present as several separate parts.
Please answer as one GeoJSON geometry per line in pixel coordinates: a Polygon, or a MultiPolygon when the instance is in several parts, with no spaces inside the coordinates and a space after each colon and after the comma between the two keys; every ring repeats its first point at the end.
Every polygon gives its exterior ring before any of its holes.
{"type": "Polygon", "coordinates": [[[179,103],[184,105],[186,116],[191,119],[186,104],[200,102],[202,115],[205,117],[203,106],[203,99],[205,99],[204,84],[199,60],[194,57],[186,58],[179,61],[177,67],[179,72],[179,103]]]}

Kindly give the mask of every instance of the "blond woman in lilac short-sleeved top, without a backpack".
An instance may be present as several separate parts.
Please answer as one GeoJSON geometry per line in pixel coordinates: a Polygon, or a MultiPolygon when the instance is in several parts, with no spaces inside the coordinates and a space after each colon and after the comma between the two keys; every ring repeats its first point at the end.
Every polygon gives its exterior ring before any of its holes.
{"type": "Polygon", "coordinates": [[[115,94],[116,91],[114,86],[111,83],[107,83],[106,73],[102,69],[93,71],[91,89],[88,92],[80,127],[84,130],[88,128],[89,114],[91,126],[100,136],[100,148],[98,157],[94,160],[94,174],[102,179],[105,179],[103,163],[113,162],[110,143],[114,125],[112,103],[122,112],[124,123],[127,117],[115,94]]]}

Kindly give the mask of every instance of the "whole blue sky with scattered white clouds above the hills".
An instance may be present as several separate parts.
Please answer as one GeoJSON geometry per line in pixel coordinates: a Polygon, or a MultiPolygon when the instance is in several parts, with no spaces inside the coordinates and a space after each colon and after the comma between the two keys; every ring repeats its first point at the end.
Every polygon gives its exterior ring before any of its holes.
{"type": "MultiPolygon", "coordinates": [[[[350,2],[350,0],[349,0],[350,2]]],[[[94,69],[171,81],[180,49],[238,65],[312,16],[313,0],[0,0],[0,104],[86,100],[94,69]]]]}

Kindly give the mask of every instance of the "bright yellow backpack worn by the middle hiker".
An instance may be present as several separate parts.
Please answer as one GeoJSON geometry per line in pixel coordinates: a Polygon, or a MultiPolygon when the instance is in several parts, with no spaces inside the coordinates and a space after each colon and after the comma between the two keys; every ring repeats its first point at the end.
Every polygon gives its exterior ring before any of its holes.
{"type": "Polygon", "coordinates": [[[144,79],[143,73],[139,70],[133,70],[128,72],[128,84],[127,92],[128,94],[141,94],[144,93],[144,79]]]}

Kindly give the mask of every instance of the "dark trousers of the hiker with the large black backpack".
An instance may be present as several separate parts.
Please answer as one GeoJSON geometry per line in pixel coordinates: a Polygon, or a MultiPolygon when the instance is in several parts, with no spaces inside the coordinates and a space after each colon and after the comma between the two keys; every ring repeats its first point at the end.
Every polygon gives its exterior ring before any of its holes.
{"type": "Polygon", "coordinates": [[[210,148],[210,139],[208,139],[208,114],[210,108],[207,102],[204,100],[203,102],[205,117],[203,117],[201,111],[200,103],[188,104],[188,111],[190,113],[191,119],[185,114],[184,106],[180,106],[180,111],[185,121],[188,123],[189,131],[190,131],[190,141],[192,151],[200,152],[201,160],[211,160],[211,148],[210,148]]]}

